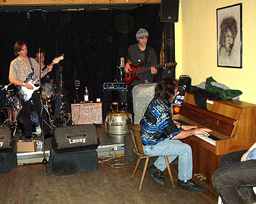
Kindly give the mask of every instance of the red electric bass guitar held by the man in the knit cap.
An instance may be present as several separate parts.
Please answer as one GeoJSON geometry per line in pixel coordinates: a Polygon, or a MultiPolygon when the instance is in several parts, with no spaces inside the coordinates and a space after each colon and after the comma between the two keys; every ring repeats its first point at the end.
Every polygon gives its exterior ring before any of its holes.
{"type": "MultiPolygon", "coordinates": [[[[134,65],[130,65],[132,71],[130,71],[129,73],[124,73],[124,83],[126,85],[129,85],[133,80],[140,80],[138,77],[138,75],[140,73],[145,73],[145,72],[151,71],[151,67],[141,68],[142,65],[144,65],[144,63],[140,63],[139,65],[137,65],[137,67],[135,67],[134,65]]],[[[171,68],[171,67],[175,67],[176,65],[177,65],[176,62],[164,63],[164,65],[156,65],[155,68],[156,69],[171,68]]]]}

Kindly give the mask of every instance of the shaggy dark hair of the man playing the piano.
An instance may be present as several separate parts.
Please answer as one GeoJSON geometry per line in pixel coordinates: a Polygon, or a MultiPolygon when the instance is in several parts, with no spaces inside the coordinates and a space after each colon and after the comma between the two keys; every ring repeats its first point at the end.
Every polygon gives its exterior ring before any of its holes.
{"type": "Polygon", "coordinates": [[[171,99],[178,87],[178,81],[172,77],[164,77],[155,87],[154,99],[160,98],[165,104],[171,106],[171,99]]]}

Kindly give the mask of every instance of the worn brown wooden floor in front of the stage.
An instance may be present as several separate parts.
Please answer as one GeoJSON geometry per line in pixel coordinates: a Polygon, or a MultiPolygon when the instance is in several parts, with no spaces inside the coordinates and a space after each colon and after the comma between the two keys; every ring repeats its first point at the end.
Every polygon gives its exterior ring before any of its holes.
{"type": "MultiPolygon", "coordinates": [[[[177,181],[178,163],[171,163],[174,181],[177,181]]],[[[124,155],[115,156],[114,151],[99,159],[95,172],[57,176],[42,163],[18,166],[9,173],[0,173],[0,203],[218,203],[218,194],[205,181],[193,178],[203,186],[201,193],[173,189],[168,172],[164,171],[166,183],[161,185],[146,173],[142,191],[139,168],[131,181],[133,166],[124,165],[124,155]]]]}

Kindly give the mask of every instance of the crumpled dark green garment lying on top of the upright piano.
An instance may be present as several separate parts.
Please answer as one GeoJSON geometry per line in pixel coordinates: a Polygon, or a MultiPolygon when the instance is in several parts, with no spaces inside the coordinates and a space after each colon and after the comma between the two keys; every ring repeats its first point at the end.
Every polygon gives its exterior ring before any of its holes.
{"type": "Polygon", "coordinates": [[[234,97],[238,97],[239,95],[242,95],[242,92],[240,90],[226,90],[221,87],[212,85],[211,82],[216,82],[216,81],[213,80],[213,77],[208,77],[206,79],[206,91],[211,93],[219,93],[220,98],[222,100],[232,100],[234,97]]]}

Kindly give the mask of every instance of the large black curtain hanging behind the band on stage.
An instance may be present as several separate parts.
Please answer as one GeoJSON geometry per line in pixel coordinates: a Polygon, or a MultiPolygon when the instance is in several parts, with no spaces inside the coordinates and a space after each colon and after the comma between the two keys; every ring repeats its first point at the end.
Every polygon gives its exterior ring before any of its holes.
{"type": "Polygon", "coordinates": [[[119,81],[120,58],[127,59],[129,45],[137,43],[139,28],[149,31],[149,45],[159,61],[164,23],[160,21],[160,5],[135,6],[95,11],[15,11],[0,12],[0,78],[9,84],[9,65],[14,57],[16,41],[25,41],[28,56],[38,48],[46,52],[46,64],[65,54],[54,65],[58,79],[60,68],[70,103],[75,99],[75,80],[80,80],[80,100],[85,86],[90,100],[102,98],[104,82],[119,81]]]}

